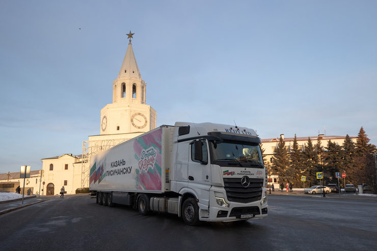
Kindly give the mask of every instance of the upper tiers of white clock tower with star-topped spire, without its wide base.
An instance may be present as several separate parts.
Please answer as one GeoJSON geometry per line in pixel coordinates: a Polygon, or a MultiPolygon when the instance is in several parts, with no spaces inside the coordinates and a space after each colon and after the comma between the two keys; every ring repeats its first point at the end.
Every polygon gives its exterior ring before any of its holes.
{"type": "Polygon", "coordinates": [[[156,128],[156,111],[146,104],[142,79],[131,45],[132,33],[118,77],[113,82],[113,103],[101,109],[100,134],[147,132],[156,128]]]}

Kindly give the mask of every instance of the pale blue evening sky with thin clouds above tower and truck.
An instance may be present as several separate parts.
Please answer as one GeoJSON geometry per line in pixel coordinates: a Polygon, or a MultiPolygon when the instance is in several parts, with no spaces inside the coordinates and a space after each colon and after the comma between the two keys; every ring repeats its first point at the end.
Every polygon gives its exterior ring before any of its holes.
{"type": "Polygon", "coordinates": [[[82,153],[127,33],[157,126],[377,144],[377,1],[0,2],[0,173],[82,153]]]}

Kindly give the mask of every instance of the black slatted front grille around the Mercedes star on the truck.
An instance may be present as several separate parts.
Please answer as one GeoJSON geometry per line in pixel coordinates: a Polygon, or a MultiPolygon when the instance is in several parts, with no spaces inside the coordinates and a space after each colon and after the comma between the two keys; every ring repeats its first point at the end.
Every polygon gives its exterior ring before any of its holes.
{"type": "Polygon", "coordinates": [[[263,179],[250,179],[248,187],[241,185],[241,178],[224,178],[224,188],[229,201],[249,203],[262,198],[263,179]]]}

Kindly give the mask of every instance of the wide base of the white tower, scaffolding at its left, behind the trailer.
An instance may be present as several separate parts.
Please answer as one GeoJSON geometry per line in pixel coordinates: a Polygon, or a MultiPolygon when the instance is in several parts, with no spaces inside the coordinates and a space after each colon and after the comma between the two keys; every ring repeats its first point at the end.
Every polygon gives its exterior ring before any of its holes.
{"type": "Polygon", "coordinates": [[[129,140],[129,138],[117,138],[112,140],[83,141],[83,155],[81,168],[81,186],[89,187],[89,170],[90,158],[92,155],[112,148],[120,143],[129,140]]]}

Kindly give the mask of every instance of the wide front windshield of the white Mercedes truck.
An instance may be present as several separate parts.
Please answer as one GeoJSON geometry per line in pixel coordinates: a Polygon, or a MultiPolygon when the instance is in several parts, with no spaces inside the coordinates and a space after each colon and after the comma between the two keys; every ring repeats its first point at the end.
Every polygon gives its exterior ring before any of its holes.
{"type": "Polygon", "coordinates": [[[263,168],[263,160],[258,144],[255,143],[232,143],[210,142],[211,162],[223,165],[224,162],[234,162],[235,165],[252,166],[263,168]],[[219,163],[222,162],[222,163],[219,163]]]}

